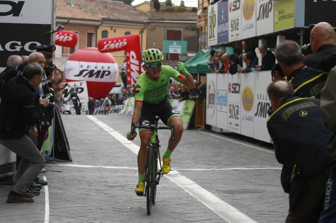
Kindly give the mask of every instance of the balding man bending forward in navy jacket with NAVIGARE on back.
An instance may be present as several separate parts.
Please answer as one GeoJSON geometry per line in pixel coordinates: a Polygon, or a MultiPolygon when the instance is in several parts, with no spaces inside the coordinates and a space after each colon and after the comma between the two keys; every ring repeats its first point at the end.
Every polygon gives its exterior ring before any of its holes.
{"type": "Polygon", "coordinates": [[[281,185],[289,193],[286,222],[317,222],[334,164],[326,149],[332,132],[323,126],[320,100],[294,96],[285,80],[272,82],[267,93],[274,109],[267,129],[275,157],[283,164],[281,185]]]}

